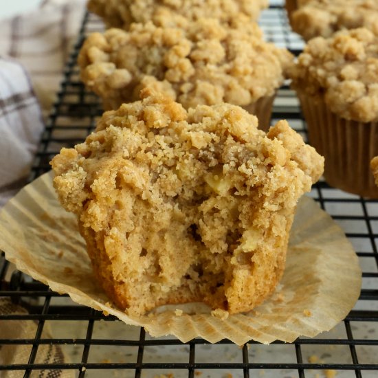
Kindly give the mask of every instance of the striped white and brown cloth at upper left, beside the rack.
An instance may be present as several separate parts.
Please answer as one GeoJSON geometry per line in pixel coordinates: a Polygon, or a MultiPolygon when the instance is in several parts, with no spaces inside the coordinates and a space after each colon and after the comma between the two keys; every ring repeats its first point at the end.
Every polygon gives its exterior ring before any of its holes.
{"type": "Polygon", "coordinates": [[[0,206],[30,170],[85,0],[45,0],[0,23],[0,206]]]}

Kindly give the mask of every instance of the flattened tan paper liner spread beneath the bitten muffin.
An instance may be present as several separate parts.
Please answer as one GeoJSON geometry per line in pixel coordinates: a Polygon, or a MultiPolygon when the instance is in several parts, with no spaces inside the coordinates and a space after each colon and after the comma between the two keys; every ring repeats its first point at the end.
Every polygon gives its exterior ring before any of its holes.
{"type": "Polygon", "coordinates": [[[209,342],[227,338],[238,345],[249,340],[269,344],[313,337],[344,319],[362,282],[351,243],[308,197],[298,202],[287,267],[275,293],[254,311],[225,320],[197,303],[160,307],[140,317],[116,309],[93,276],[75,216],[56,199],[52,173],[26,186],[1,210],[0,248],[19,270],[53,291],[68,293],[74,302],[144,326],[152,336],[175,335],[182,342],[203,337],[209,342]]]}

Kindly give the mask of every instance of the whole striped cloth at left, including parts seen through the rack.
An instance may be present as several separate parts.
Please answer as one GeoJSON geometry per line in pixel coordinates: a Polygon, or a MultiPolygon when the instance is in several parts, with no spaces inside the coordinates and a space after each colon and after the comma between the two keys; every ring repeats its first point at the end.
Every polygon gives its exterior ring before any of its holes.
{"type": "MultiPolygon", "coordinates": [[[[0,22],[0,207],[22,188],[85,10],[85,0],[47,0],[35,12],[0,22]]],[[[0,313],[26,311],[0,298],[0,313]]],[[[2,320],[1,338],[33,339],[36,322],[2,320]]],[[[43,338],[52,337],[45,325],[43,338]]],[[[27,363],[32,346],[0,346],[0,364],[27,363]]],[[[68,362],[61,346],[40,345],[36,363],[68,362]]],[[[1,375],[2,374],[2,375],[1,375]]],[[[21,370],[1,377],[20,377],[21,370]]],[[[33,370],[32,377],[74,377],[73,370],[33,370]]]]}

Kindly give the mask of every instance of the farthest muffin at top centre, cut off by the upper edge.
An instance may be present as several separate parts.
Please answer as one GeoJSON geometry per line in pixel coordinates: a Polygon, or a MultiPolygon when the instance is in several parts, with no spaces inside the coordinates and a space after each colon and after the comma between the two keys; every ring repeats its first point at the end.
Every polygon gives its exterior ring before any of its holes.
{"type": "Polygon", "coordinates": [[[243,16],[248,22],[257,20],[267,5],[268,0],[89,0],[88,9],[102,17],[108,27],[129,30],[131,23],[153,21],[155,25],[173,26],[202,17],[230,23],[243,16]]]}

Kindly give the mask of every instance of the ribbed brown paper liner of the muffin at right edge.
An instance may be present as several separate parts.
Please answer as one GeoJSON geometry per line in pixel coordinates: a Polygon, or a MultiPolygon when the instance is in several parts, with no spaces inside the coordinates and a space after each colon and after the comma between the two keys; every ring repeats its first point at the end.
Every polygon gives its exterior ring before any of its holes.
{"type": "Polygon", "coordinates": [[[324,178],[335,188],[378,198],[370,160],[378,155],[378,122],[345,120],[329,111],[322,98],[298,93],[309,142],[325,158],[324,178]]]}

